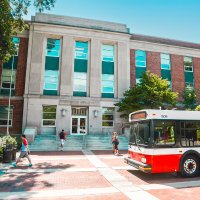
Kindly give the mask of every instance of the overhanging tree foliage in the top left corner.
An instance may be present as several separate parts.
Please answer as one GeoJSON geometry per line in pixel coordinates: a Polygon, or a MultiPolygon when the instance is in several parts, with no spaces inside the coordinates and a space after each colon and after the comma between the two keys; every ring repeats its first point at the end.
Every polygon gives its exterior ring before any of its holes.
{"type": "MultiPolygon", "coordinates": [[[[34,0],[39,12],[50,10],[56,0],[34,0]]],[[[12,37],[28,28],[23,16],[27,15],[31,0],[0,0],[0,63],[15,53],[12,37]]]]}

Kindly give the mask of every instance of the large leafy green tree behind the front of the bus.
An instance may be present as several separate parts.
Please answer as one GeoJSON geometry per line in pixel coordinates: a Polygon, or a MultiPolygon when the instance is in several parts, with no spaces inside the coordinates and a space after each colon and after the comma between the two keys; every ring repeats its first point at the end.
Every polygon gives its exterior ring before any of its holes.
{"type": "Polygon", "coordinates": [[[167,108],[176,105],[178,94],[169,88],[169,82],[147,71],[141,77],[140,83],[125,91],[124,98],[115,105],[121,117],[140,109],[167,108]]]}

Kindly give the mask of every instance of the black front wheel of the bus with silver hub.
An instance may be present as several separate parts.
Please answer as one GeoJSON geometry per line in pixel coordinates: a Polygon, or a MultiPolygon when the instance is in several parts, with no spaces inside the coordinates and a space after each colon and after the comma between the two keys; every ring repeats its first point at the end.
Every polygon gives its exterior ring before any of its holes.
{"type": "Polygon", "coordinates": [[[199,174],[199,159],[194,155],[187,155],[181,163],[181,175],[183,177],[195,177],[199,174]]]}

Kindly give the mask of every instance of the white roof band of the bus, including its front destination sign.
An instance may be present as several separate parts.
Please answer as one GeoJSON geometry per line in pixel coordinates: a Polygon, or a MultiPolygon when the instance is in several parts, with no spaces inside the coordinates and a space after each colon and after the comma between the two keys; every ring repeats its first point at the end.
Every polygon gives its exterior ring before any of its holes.
{"type": "Polygon", "coordinates": [[[147,109],[129,114],[129,122],[145,119],[200,120],[200,111],[147,109]]]}

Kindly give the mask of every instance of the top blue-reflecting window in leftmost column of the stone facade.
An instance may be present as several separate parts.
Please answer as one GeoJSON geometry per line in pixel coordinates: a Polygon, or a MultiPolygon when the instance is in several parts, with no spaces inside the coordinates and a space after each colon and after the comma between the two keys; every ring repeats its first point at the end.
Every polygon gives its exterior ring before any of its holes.
{"type": "Polygon", "coordinates": [[[59,39],[47,39],[47,49],[46,55],[52,57],[59,57],[60,56],[60,40],[59,39]]]}

